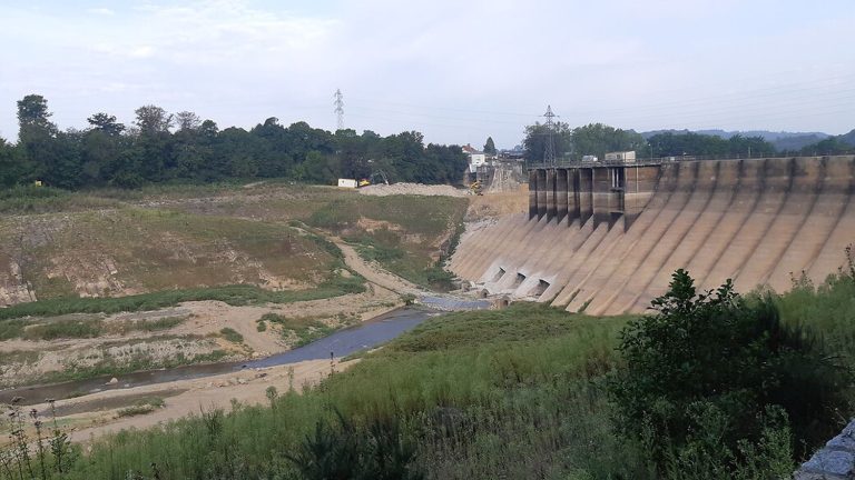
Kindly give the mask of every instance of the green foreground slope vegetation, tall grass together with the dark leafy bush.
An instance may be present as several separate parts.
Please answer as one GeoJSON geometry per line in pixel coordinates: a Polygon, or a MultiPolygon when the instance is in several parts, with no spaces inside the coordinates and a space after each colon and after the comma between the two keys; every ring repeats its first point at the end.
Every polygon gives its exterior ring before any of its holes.
{"type": "Polygon", "coordinates": [[[106,437],[65,478],[778,478],[853,412],[853,323],[827,319],[853,298],[849,266],[780,297],[678,272],[640,319],[451,313],[302,394],[106,437]]]}

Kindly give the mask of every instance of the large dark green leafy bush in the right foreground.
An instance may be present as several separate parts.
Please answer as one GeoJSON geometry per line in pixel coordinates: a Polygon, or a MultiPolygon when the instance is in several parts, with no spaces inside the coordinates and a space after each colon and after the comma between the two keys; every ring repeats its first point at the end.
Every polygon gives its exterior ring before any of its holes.
{"type": "MultiPolygon", "coordinates": [[[[746,446],[792,429],[802,454],[837,431],[842,409],[848,413],[849,372],[808,330],[783,324],[769,297],[749,303],[729,280],[698,293],[691,277],[678,270],[652,306],[658,314],[623,329],[626,369],[612,377],[609,390],[616,427],[647,439],[660,470],[669,458],[700,451],[737,477],[756,461],[747,458],[746,446]],[[710,423],[718,426],[717,440],[704,442],[698,432],[708,432],[710,423]]],[[[772,450],[792,457],[789,449],[772,450]]],[[[782,464],[779,457],[767,460],[782,464]]]]}

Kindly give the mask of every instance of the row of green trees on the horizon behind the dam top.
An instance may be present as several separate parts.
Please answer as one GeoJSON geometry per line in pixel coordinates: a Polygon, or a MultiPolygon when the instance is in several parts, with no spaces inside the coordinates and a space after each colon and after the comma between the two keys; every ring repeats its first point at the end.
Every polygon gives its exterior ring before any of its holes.
{"type": "Polygon", "coordinates": [[[845,136],[829,137],[800,150],[777,150],[763,137],[734,136],[724,139],[700,133],[664,132],[647,139],[633,130],[622,130],[602,123],[590,123],[570,128],[557,122],[550,131],[543,123],[525,127],[523,148],[525,160],[541,162],[550,137],[556,157],[579,161],[583,156],[596,156],[600,160],[606,152],[635,150],[637,158],[661,157],[770,157],[776,154],[827,156],[852,152],[855,147],[845,136]]]}

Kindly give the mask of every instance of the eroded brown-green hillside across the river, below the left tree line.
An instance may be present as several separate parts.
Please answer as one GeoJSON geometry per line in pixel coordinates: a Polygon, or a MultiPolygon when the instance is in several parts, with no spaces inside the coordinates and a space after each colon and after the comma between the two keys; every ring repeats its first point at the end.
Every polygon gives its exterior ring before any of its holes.
{"type": "Polygon", "coordinates": [[[390,267],[424,283],[465,204],[276,182],[40,192],[0,206],[12,213],[0,220],[0,304],[235,283],[311,289],[336,264],[304,223],[392,251],[390,267]]]}

